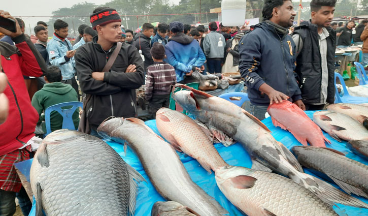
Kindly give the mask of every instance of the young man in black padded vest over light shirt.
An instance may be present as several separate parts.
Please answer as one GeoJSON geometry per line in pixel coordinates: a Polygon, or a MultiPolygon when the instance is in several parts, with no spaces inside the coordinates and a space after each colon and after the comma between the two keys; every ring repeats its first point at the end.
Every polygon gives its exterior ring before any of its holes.
{"type": "Polygon", "coordinates": [[[296,75],[306,110],[333,104],[336,32],[329,26],[336,0],[313,0],[310,21],[295,27],[296,75]]]}

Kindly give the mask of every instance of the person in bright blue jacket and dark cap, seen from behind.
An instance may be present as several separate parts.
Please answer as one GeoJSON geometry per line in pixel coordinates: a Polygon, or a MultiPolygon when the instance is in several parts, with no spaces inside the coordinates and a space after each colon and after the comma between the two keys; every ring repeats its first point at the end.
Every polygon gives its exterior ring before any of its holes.
{"type": "Polygon", "coordinates": [[[166,59],[175,68],[177,82],[193,82],[191,75],[193,71],[200,70],[206,56],[198,42],[184,34],[183,23],[170,23],[170,33],[172,37],[165,46],[166,59]]]}

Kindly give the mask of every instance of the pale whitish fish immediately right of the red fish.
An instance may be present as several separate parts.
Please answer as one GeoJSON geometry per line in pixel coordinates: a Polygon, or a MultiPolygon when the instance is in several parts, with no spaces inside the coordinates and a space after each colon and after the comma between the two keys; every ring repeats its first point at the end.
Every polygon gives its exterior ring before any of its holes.
{"type": "Polygon", "coordinates": [[[366,130],[354,118],[330,110],[318,111],[313,114],[313,121],[333,139],[341,140],[368,140],[366,130]]]}

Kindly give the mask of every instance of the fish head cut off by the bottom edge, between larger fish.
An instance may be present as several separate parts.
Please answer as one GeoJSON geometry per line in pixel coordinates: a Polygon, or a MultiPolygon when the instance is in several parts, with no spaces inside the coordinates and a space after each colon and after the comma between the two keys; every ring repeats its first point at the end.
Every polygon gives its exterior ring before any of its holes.
{"type": "Polygon", "coordinates": [[[191,209],[174,201],[155,202],[151,216],[199,216],[191,209]]]}

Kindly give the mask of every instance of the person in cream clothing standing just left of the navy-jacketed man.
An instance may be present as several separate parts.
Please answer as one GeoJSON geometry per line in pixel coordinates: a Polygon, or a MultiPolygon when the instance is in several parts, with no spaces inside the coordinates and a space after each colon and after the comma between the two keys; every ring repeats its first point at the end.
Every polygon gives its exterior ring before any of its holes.
{"type": "Polygon", "coordinates": [[[222,66],[222,73],[237,73],[239,71],[239,41],[244,33],[238,33],[233,39],[226,41],[225,63],[222,66]]]}

